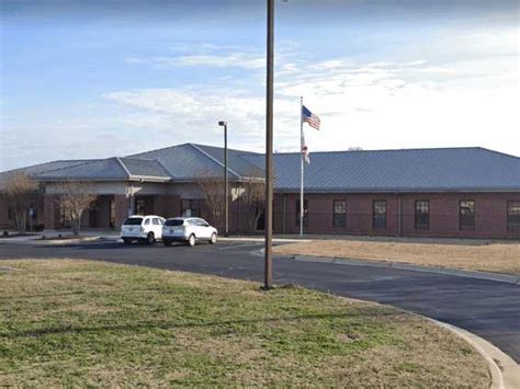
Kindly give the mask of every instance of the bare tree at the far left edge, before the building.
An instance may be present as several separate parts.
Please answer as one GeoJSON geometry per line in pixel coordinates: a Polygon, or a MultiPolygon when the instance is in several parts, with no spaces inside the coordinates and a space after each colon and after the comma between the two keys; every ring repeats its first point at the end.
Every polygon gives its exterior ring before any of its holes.
{"type": "Polygon", "coordinates": [[[38,183],[24,173],[12,173],[2,180],[1,192],[14,216],[14,229],[24,233],[27,226],[27,210],[38,191],[38,183]]]}

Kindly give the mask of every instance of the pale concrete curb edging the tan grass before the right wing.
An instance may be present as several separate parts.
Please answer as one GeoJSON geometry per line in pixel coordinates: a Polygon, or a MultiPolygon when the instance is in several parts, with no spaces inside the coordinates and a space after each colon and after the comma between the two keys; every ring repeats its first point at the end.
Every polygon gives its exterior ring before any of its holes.
{"type": "Polygon", "coordinates": [[[438,267],[438,266],[419,266],[419,265],[411,265],[408,263],[400,263],[400,262],[360,261],[360,260],[350,260],[350,259],[334,259],[334,258],[326,258],[326,256],[307,256],[307,255],[292,255],[290,258],[294,259],[295,261],[303,261],[303,262],[320,262],[320,263],[332,263],[336,265],[396,268],[400,271],[434,273],[434,274],[453,275],[453,276],[459,276],[459,277],[495,281],[498,283],[507,283],[507,284],[513,284],[513,285],[520,284],[520,276],[508,275],[508,274],[463,271],[463,270],[457,270],[457,268],[448,268],[448,267],[438,267]]]}

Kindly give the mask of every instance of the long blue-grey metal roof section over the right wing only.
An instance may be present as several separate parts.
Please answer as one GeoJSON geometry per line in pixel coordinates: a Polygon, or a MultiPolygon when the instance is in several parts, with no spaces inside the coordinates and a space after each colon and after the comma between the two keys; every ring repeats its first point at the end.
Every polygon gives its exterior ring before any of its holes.
{"type": "MultiPolygon", "coordinates": [[[[263,168],[263,156],[244,156],[263,168]]],[[[299,191],[299,153],[274,155],[275,188],[299,191]]],[[[307,192],[520,191],[520,158],[483,148],[310,153],[307,192]]]]}

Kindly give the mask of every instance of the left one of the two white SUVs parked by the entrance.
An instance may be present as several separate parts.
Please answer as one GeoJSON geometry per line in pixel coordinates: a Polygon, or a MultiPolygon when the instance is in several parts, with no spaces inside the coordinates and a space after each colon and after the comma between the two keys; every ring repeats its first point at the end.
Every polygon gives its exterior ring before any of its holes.
{"type": "Polygon", "coordinates": [[[156,240],[161,239],[163,224],[165,218],[160,216],[134,215],[127,218],[121,227],[121,238],[123,238],[125,244],[129,244],[133,241],[154,244],[156,240]]]}

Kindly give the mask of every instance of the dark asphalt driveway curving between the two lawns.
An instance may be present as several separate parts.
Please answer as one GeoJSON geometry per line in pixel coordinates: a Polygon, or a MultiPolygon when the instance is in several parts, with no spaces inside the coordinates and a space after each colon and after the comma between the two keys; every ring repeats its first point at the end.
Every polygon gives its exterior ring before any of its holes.
{"type": "MultiPolygon", "coordinates": [[[[0,244],[0,260],[77,258],[131,265],[263,279],[263,259],[255,242],[221,242],[165,248],[103,242],[71,247],[0,244]]],[[[274,260],[274,283],[293,283],[389,304],[466,329],[520,362],[520,286],[459,276],[394,268],[274,260]]],[[[1,279],[1,278],[0,278],[1,279]]]]}

